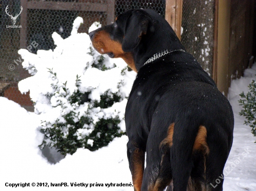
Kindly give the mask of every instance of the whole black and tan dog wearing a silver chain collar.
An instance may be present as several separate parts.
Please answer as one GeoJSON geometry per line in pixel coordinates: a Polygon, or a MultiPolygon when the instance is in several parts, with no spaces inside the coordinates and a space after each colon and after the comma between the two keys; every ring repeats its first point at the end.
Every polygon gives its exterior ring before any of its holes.
{"type": "Polygon", "coordinates": [[[138,73],[125,113],[135,191],[222,191],[232,108],[168,22],[129,10],[89,36],[97,51],[138,73]]]}

